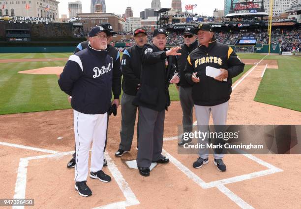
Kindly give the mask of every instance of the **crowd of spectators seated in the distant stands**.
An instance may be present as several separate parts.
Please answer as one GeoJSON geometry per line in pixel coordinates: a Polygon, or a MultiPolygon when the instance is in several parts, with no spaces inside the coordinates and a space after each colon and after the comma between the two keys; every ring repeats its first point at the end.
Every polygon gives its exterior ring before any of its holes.
{"type": "MultiPolygon", "coordinates": [[[[241,31],[229,31],[229,32],[215,32],[215,37],[219,42],[234,45],[240,37],[248,36],[257,39],[257,44],[268,44],[269,35],[267,30],[241,30],[241,31]]],[[[148,34],[148,42],[152,41],[152,34],[148,34]]],[[[134,39],[122,39],[114,41],[115,43],[134,43],[134,39]]],[[[167,45],[178,46],[184,42],[184,38],[180,32],[168,32],[167,45]]],[[[282,51],[292,51],[293,47],[297,49],[301,47],[301,29],[294,30],[274,30],[271,33],[271,43],[281,44],[282,51]]]]}

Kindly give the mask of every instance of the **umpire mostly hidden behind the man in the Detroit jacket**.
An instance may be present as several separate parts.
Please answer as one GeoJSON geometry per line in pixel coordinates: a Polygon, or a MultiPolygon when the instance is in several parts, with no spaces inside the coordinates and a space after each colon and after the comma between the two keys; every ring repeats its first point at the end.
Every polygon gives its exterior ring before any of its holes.
{"type": "MultiPolygon", "coordinates": [[[[117,34],[116,32],[113,31],[112,26],[109,23],[102,24],[101,25],[105,30],[110,31],[110,35],[108,36],[108,44],[106,50],[108,51],[108,54],[110,57],[113,59],[113,79],[114,79],[114,85],[112,87],[113,95],[114,95],[114,100],[119,101],[119,96],[121,93],[121,71],[120,71],[120,53],[119,51],[113,47],[110,42],[112,41],[112,36],[117,34]],[[118,84],[118,85],[117,85],[118,84]]],[[[89,40],[83,41],[79,43],[74,51],[74,54],[84,50],[88,47],[89,40]]],[[[69,97],[69,101],[71,101],[71,97],[69,97]]],[[[119,103],[117,103],[117,108],[118,108],[119,103]]],[[[109,120],[108,120],[109,121],[109,120]]],[[[106,144],[105,148],[106,149],[107,145],[107,137],[106,137],[106,144]]],[[[72,155],[72,159],[67,163],[67,168],[74,168],[75,167],[75,156],[76,156],[76,146],[75,146],[75,152],[72,155]]],[[[107,160],[104,159],[103,166],[106,166],[108,164],[107,160]]]]}

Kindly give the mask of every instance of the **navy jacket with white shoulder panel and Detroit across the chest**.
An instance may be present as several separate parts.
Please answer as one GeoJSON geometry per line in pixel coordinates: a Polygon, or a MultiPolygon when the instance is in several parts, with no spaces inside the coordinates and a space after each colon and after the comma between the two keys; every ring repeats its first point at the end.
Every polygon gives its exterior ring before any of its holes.
{"type": "Polygon", "coordinates": [[[106,50],[88,48],[71,55],[60,74],[60,89],[72,96],[73,109],[104,114],[111,106],[113,61],[106,50]]]}

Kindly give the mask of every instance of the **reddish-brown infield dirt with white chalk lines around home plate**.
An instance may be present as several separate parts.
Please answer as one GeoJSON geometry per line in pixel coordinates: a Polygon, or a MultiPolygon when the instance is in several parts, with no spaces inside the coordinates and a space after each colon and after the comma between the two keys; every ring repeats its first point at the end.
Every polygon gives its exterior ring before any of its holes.
{"type": "MultiPolygon", "coordinates": [[[[233,84],[227,123],[301,125],[301,112],[253,101],[266,64],[277,69],[277,63],[248,62],[257,66],[233,84]]],[[[0,163],[5,166],[0,178],[5,183],[0,198],[34,198],[34,208],[43,209],[300,208],[296,197],[301,196],[301,155],[227,155],[225,173],[216,170],[210,156],[208,165],[193,169],[197,156],[178,154],[177,140],[170,139],[177,136],[177,125],[181,124],[180,102],[172,102],[166,112],[163,145],[171,162],[157,165],[151,176],[143,177],[125,164],[136,158],[136,135],[129,153],[114,156],[120,143],[120,115],[119,108],[117,116],[109,120],[109,165],[104,171],[113,180],[102,183],[88,178],[93,195],[86,199],[74,190],[74,170],[66,168],[71,157],[68,151],[74,148],[71,109],[1,115],[0,141],[5,143],[0,143],[0,163]]]]}

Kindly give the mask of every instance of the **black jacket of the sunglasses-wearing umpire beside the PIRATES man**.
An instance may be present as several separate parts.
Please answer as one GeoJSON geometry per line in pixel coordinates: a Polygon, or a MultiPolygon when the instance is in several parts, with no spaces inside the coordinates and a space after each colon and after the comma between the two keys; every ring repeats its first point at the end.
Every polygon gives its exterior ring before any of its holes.
{"type": "Polygon", "coordinates": [[[188,83],[185,79],[185,66],[187,62],[188,55],[194,50],[198,48],[198,40],[195,40],[192,44],[189,45],[189,47],[186,44],[181,44],[181,49],[178,51],[181,53],[180,56],[177,56],[177,64],[178,64],[178,71],[180,75],[180,82],[177,84],[181,87],[191,87],[192,85],[188,83]]]}

